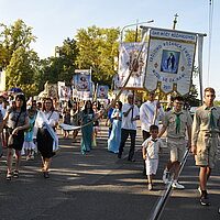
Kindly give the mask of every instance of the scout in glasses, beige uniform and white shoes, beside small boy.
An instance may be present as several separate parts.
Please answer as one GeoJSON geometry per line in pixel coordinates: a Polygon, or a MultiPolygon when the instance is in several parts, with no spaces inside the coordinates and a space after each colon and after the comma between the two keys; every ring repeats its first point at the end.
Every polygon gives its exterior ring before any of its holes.
{"type": "Polygon", "coordinates": [[[187,147],[190,147],[191,141],[191,117],[190,114],[183,110],[184,98],[176,97],[174,99],[174,109],[166,112],[163,119],[163,127],[158,134],[161,138],[167,130],[167,146],[170,150],[170,158],[166,165],[163,174],[164,184],[168,183],[170,177],[170,168],[174,166],[174,182],[173,188],[184,189],[185,187],[180,185],[178,179],[179,166],[183,160],[184,153],[187,147]],[[188,133],[188,143],[186,144],[186,131],[188,133]]]}

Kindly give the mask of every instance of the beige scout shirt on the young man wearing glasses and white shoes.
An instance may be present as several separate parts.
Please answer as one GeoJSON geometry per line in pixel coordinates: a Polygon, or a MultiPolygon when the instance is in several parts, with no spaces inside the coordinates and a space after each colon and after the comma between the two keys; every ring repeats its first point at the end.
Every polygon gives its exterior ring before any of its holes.
{"type": "Polygon", "coordinates": [[[163,118],[163,124],[167,127],[167,138],[179,139],[186,136],[186,129],[187,127],[191,127],[193,119],[187,111],[182,110],[180,112],[180,129],[179,132],[176,133],[176,114],[174,110],[166,112],[165,117],[163,118]]]}

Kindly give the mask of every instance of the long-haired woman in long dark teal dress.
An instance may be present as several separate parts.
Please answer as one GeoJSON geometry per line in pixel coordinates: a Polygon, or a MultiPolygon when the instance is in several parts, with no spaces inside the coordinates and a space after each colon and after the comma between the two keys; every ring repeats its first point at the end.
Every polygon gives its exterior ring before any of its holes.
{"type": "MultiPolygon", "coordinates": [[[[88,100],[85,103],[85,109],[80,112],[81,125],[91,122],[95,119],[95,113],[92,110],[91,101],[88,100]]],[[[81,153],[85,154],[91,150],[92,145],[92,132],[94,132],[94,123],[90,123],[87,127],[81,128],[81,153]]]]}

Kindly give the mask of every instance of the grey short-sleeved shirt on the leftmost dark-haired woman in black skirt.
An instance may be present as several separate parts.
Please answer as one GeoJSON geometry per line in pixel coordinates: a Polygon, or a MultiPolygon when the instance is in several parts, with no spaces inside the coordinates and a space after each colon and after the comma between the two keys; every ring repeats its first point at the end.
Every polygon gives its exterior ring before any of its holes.
{"type": "MultiPolygon", "coordinates": [[[[20,111],[14,111],[14,109],[11,107],[7,110],[7,112],[9,113],[8,127],[14,129],[20,111]]],[[[16,127],[23,127],[25,124],[25,118],[28,116],[29,116],[28,111],[22,111],[19,117],[16,127]]]]}

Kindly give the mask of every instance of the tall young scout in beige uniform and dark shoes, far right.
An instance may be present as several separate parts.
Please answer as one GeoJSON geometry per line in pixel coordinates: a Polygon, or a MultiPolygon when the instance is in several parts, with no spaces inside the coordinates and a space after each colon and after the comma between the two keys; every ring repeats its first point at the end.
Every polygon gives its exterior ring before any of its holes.
{"type": "Polygon", "coordinates": [[[209,206],[207,183],[217,161],[218,136],[220,133],[220,108],[213,106],[216,91],[205,89],[205,105],[196,110],[193,124],[191,152],[196,165],[200,166],[200,204],[209,206]]]}

